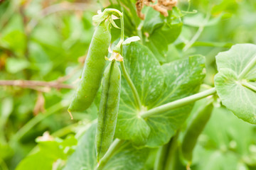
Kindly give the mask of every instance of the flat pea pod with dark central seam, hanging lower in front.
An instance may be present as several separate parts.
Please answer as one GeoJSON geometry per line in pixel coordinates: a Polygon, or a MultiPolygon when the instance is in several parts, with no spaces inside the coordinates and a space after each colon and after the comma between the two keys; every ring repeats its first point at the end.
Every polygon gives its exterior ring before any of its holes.
{"type": "Polygon", "coordinates": [[[96,131],[97,162],[110,147],[117,124],[117,113],[121,91],[121,72],[115,60],[107,66],[102,83],[100,111],[96,131]]]}

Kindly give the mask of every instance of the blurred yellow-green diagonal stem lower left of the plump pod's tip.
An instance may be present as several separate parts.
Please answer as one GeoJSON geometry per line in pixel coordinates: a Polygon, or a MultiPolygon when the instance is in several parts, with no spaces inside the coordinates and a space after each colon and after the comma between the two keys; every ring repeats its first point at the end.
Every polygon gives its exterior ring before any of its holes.
{"type": "Polygon", "coordinates": [[[12,142],[17,142],[18,140],[23,137],[29,130],[31,130],[36,124],[41,122],[43,119],[47,118],[49,115],[52,115],[53,113],[56,113],[58,110],[63,108],[63,105],[61,103],[57,103],[46,111],[46,113],[41,113],[39,115],[36,115],[36,117],[32,118],[31,120],[26,123],[26,125],[23,125],[23,127],[16,132],[16,134],[12,137],[12,142]]]}

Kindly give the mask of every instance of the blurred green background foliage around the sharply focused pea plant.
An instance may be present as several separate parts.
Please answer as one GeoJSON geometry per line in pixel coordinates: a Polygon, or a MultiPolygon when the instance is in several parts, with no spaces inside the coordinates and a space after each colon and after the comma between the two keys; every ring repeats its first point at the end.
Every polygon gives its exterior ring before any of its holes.
{"type": "MultiPolygon", "coordinates": [[[[0,169],[15,169],[35,151],[43,132],[64,139],[95,120],[96,106],[87,111],[91,114],[75,113],[75,120],[67,107],[94,31],[92,16],[111,3],[119,1],[0,1],[0,169]],[[50,81],[54,88],[16,80],[50,81]]],[[[256,44],[255,0],[180,0],[178,8],[183,27],[168,54],[171,60],[205,55],[210,86],[218,52],[236,43],[256,44]]],[[[137,35],[138,18],[126,17],[125,24],[134,22],[135,31],[127,35],[137,35]]],[[[254,125],[216,108],[196,148],[193,169],[256,169],[255,135],[254,125]]]]}

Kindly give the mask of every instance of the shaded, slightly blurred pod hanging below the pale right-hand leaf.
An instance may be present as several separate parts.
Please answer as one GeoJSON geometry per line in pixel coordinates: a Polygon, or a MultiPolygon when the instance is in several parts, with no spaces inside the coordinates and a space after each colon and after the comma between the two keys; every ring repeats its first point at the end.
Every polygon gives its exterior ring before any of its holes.
{"type": "Polygon", "coordinates": [[[189,163],[192,161],[193,148],[196,146],[199,135],[203,132],[203,129],[206,126],[206,123],[210,119],[210,115],[213,111],[213,103],[210,101],[203,108],[201,108],[196,117],[193,118],[191,123],[188,125],[188,128],[183,137],[183,142],[181,145],[181,151],[183,157],[188,160],[189,163]]]}

